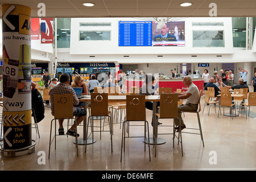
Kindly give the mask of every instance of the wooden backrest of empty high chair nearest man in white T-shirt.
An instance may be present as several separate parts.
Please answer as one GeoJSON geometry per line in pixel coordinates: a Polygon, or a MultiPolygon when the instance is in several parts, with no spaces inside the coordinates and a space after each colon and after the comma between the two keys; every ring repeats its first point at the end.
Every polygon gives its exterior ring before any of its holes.
{"type": "Polygon", "coordinates": [[[160,94],[160,118],[178,117],[178,94],[160,94]]]}

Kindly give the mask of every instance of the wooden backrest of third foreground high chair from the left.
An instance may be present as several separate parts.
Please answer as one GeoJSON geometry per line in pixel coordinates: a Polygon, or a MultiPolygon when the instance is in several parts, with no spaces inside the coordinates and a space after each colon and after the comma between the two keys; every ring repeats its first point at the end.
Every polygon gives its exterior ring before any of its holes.
{"type": "Polygon", "coordinates": [[[126,95],[126,121],[145,120],[145,95],[126,95]]]}

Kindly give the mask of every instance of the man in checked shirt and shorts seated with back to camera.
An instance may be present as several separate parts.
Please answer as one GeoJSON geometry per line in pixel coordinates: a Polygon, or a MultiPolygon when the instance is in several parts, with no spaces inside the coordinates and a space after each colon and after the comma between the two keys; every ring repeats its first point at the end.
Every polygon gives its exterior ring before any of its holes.
{"type": "MultiPolygon", "coordinates": [[[[86,110],[75,106],[79,104],[79,100],[75,94],[75,90],[69,86],[70,76],[67,73],[63,73],[59,81],[60,83],[57,86],[54,86],[49,92],[51,114],[54,115],[54,94],[73,94],[73,115],[77,117],[77,125],[79,125],[83,119],[85,119],[87,112],[86,110]]],[[[63,121],[64,119],[59,119],[59,135],[64,135],[63,121]]],[[[79,134],[75,131],[75,123],[70,127],[66,134],[72,137],[75,137],[75,135],[79,137],[79,134]]]]}

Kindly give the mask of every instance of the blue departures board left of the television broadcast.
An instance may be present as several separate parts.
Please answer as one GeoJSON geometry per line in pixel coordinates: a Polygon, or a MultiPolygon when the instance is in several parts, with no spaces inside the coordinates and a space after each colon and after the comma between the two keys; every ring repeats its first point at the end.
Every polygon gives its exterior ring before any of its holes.
{"type": "Polygon", "coordinates": [[[120,21],[118,46],[152,46],[152,22],[120,21]]]}

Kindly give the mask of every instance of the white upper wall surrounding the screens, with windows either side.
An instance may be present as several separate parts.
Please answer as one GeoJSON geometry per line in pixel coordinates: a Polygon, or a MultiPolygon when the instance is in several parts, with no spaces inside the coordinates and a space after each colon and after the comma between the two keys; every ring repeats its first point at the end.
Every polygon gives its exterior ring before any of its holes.
{"type": "MultiPolygon", "coordinates": [[[[185,18],[185,45],[184,47],[118,47],[119,20],[138,20],[136,18],[71,18],[70,54],[71,55],[175,55],[175,54],[227,54],[233,53],[233,34],[231,18],[185,18]],[[80,27],[85,22],[111,22],[111,26],[80,27]],[[192,22],[224,22],[223,27],[193,27],[192,22]],[[192,30],[224,30],[225,47],[198,48],[193,47],[192,30]],[[110,30],[111,40],[107,41],[79,41],[79,31],[82,30],[110,30]]],[[[141,20],[141,19],[139,19],[141,20]]]]}

